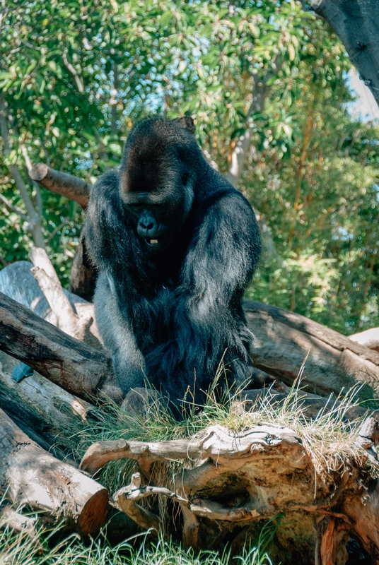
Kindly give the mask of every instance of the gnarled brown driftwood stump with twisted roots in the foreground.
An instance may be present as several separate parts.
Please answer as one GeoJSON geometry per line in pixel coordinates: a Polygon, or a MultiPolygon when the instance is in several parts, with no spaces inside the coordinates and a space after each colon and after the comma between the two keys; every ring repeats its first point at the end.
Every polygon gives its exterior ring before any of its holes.
{"type": "MultiPolygon", "coordinates": [[[[367,429],[370,425],[363,426],[359,437],[371,433],[367,429]]],[[[278,556],[286,552],[286,562],[315,562],[317,547],[319,563],[342,565],[348,557],[349,537],[357,538],[371,557],[379,549],[378,480],[368,480],[360,466],[372,459],[371,464],[379,467],[373,439],[366,438],[359,446],[361,463],[330,471],[323,480],[317,479],[300,436],[269,425],[239,433],[212,426],[201,437],[172,441],[98,442],[86,452],[81,468],[92,473],[109,460],[136,460],[143,474],[133,475],[132,482],[115,494],[117,504],[141,528],[160,530],[161,518],[146,513],[138,501],[151,494],[176,501],[190,516],[192,535],[187,535],[185,545],[211,549],[228,540],[235,554],[254,537],[262,519],[285,513],[276,533],[278,556]],[[152,463],[170,460],[179,461],[172,486],[142,484],[141,476],[148,477],[152,463]]],[[[165,475],[166,482],[169,476],[165,475]]],[[[176,519],[176,528],[179,523],[176,519]]],[[[186,518],[183,537],[185,528],[188,534],[186,518]]]]}

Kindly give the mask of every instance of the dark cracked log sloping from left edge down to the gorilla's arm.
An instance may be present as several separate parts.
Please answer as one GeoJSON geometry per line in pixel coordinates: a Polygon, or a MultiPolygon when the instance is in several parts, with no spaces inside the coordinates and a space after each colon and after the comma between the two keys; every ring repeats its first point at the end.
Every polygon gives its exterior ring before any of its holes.
{"type": "Polygon", "coordinates": [[[109,357],[2,293],[0,349],[80,398],[105,395],[122,400],[109,357]]]}

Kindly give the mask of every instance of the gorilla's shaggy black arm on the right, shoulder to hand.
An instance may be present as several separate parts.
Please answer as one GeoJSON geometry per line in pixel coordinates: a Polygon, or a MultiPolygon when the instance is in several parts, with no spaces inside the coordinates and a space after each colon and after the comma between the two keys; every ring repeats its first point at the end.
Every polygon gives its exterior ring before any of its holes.
{"type": "MultiPolygon", "coordinates": [[[[226,349],[224,360],[250,363],[251,335],[241,299],[259,255],[260,234],[250,204],[238,193],[223,196],[207,211],[182,271],[186,296],[182,314],[196,329],[192,340],[202,342],[200,350],[209,370],[217,369],[226,349]]],[[[180,337],[184,337],[182,329],[180,337]]]]}

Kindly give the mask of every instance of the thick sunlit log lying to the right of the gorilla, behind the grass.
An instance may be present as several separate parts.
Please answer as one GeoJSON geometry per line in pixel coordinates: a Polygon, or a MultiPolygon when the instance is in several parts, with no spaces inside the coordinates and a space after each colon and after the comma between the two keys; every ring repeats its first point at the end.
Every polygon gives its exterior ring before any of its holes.
{"type": "Polygon", "coordinates": [[[379,353],[300,314],[244,301],[248,326],[255,335],[251,356],[255,367],[312,393],[339,395],[361,385],[359,398],[379,398],[379,353]]]}

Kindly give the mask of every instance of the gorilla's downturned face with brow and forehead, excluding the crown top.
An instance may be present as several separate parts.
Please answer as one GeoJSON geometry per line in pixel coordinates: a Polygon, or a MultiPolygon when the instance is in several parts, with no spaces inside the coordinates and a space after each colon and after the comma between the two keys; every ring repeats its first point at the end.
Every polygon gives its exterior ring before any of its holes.
{"type": "MultiPolygon", "coordinates": [[[[149,140],[150,141],[150,140],[149,140]]],[[[177,150],[140,140],[129,151],[119,194],[146,251],[166,251],[187,219],[194,198],[194,173],[177,150]]]]}

